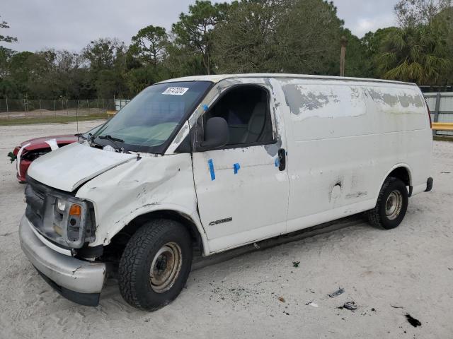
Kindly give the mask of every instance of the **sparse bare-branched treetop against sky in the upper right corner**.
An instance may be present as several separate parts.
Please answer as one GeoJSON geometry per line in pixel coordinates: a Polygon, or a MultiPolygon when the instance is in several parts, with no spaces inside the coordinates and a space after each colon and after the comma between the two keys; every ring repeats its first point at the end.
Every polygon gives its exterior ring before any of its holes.
{"type": "Polygon", "coordinates": [[[427,25],[451,6],[452,0],[399,0],[395,12],[401,27],[427,25]]]}

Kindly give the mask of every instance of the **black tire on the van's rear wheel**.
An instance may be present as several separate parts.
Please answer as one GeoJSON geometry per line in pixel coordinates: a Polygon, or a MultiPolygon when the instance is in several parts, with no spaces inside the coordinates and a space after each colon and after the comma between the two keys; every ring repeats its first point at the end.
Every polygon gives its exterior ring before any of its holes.
{"type": "Polygon", "coordinates": [[[366,212],[369,223],[374,227],[384,228],[385,230],[391,230],[392,228],[398,227],[403,221],[404,215],[406,215],[408,201],[409,197],[406,185],[401,179],[388,177],[379,192],[376,207],[366,212]],[[397,197],[396,201],[399,201],[401,198],[401,206],[396,208],[392,215],[388,215],[392,210],[391,208],[388,209],[387,205],[391,194],[394,194],[391,197],[391,201],[393,201],[394,196],[397,197]]]}

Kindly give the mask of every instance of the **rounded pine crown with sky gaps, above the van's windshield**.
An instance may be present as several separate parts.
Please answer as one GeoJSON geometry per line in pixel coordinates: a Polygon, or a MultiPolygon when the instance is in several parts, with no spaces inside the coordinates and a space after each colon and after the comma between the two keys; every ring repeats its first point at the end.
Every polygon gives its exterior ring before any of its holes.
{"type": "Polygon", "coordinates": [[[164,59],[167,40],[165,28],[149,25],[132,37],[130,49],[144,62],[156,66],[164,59]]]}

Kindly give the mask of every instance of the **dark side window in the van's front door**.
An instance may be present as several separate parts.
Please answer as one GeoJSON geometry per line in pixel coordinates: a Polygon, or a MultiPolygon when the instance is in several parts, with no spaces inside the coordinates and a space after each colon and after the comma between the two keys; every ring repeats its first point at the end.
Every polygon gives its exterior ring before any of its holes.
{"type": "Polygon", "coordinates": [[[260,86],[240,85],[229,90],[203,116],[203,123],[212,117],[222,117],[228,123],[227,147],[274,142],[268,91],[260,86]]]}

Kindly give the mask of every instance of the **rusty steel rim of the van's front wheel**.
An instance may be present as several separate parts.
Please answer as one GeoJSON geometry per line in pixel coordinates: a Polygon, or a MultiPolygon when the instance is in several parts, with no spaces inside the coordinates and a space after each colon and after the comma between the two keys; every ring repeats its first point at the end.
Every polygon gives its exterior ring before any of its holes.
{"type": "Polygon", "coordinates": [[[163,293],[171,289],[183,265],[181,249],[176,242],[168,242],[157,251],[149,269],[152,290],[163,293]]]}

